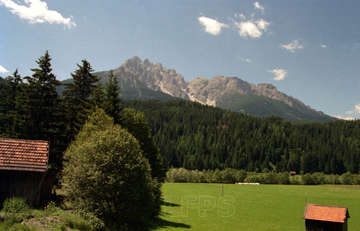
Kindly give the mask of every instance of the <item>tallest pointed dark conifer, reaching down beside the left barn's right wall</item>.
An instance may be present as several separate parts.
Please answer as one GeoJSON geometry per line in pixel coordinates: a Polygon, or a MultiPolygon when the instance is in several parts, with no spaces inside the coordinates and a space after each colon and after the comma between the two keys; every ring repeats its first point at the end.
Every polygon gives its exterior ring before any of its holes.
{"type": "Polygon", "coordinates": [[[16,97],[14,131],[18,138],[50,141],[49,164],[52,168],[61,168],[62,127],[60,118],[60,97],[56,87],[61,82],[51,73],[51,58],[45,54],[35,61],[39,68],[30,69],[34,73],[26,76],[28,84],[16,97]]]}

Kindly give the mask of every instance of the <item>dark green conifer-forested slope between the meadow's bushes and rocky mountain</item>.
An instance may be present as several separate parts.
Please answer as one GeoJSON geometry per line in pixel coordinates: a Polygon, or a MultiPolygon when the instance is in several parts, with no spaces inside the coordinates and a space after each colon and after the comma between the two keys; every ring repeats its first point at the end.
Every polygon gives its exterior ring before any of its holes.
{"type": "Polygon", "coordinates": [[[168,167],[359,172],[360,120],[292,124],[190,101],[123,103],[144,112],[168,167]]]}

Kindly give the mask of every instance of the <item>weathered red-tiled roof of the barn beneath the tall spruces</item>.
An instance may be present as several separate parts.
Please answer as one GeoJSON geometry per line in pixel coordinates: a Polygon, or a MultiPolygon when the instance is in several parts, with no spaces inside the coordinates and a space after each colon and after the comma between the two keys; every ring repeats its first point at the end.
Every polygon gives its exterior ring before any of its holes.
{"type": "Polygon", "coordinates": [[[0,169],[45,172],[49,141],[0,138],[0,169]]]}

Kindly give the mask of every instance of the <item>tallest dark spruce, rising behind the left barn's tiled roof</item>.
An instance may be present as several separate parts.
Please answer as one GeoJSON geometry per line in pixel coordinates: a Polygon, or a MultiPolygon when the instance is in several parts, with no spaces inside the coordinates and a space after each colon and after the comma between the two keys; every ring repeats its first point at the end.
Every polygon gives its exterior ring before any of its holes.
{"type": "Polygon", "coordinates": [[[56,87],[61,85],[51,73],[51,58],[48,51],[35,61],[39,68],[30,69],[32,77],[26,76],[28,84],[17,100],[22,112],[22,121],[17,127],[23,138],[50,140],[57,126],[59,96],[56,87]]]}

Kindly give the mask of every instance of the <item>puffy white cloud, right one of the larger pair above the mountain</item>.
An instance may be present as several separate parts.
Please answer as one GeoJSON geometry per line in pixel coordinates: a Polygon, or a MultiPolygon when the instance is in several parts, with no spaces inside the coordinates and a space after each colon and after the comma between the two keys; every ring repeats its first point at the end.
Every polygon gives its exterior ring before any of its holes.
{"type": "Polygon", "coordinates": [[[264,19],[260,19],[257,21],[249,20],[243,22],[235,22],[235,26],[239,28],[239,34],[243,37],[253,37],[258,38],[262,35],[262,31],[266,31],[266,27],[271,23],[266,22],[264,19]]]}

